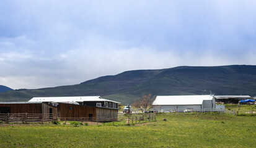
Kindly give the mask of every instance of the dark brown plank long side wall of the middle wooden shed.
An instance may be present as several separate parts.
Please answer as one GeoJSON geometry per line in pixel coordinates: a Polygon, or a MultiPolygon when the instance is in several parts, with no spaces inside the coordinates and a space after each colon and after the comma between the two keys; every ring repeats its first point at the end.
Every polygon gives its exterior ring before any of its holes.
{"type": "Polygon", "coordinates": [[[89,117],[89,114],[96,117],[96,108],[84,105],[59,104],[58,111],[60,111],[60,117],[89,117]]]}

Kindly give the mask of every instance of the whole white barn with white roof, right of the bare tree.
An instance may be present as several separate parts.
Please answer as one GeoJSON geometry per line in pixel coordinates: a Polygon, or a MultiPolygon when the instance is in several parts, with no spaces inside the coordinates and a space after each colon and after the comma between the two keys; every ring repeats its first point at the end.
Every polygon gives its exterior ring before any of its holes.
{"type": "Polygon", "coordinates": [[[154,110],[214,110],[216,108],[214,96],[157,96],[152,103],[154,110]]]}

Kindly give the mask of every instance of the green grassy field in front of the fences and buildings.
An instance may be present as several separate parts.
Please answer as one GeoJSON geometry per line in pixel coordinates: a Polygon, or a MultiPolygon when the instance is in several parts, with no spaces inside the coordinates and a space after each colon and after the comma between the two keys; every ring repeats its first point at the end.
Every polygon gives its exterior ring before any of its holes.
{"type": "Polygon", "coordinates": [[[0,147],[255,147],[256,117],[159,114],[135,126],[3,125],[0,147]],[[163,121],[166,118],[167,121],[163,121]]]}

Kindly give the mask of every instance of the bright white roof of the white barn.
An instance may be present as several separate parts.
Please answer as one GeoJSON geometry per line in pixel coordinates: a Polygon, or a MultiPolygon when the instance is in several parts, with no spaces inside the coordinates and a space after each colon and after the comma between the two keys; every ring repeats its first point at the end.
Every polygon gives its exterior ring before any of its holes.
{"type": "Polygon", "coordinates": [[[204,100],[213,100],[213,96],[156,96],[152,105],[201,105],[204,100]]]}

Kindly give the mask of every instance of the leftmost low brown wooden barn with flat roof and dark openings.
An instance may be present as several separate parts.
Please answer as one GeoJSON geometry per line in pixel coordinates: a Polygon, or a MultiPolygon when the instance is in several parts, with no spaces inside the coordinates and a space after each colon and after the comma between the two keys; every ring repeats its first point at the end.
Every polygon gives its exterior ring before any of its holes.
{"type": "Polygon", "coordinates": [[[44,102],[0,102],[0,113],[53,113],[57,107],[44,102]]]}

